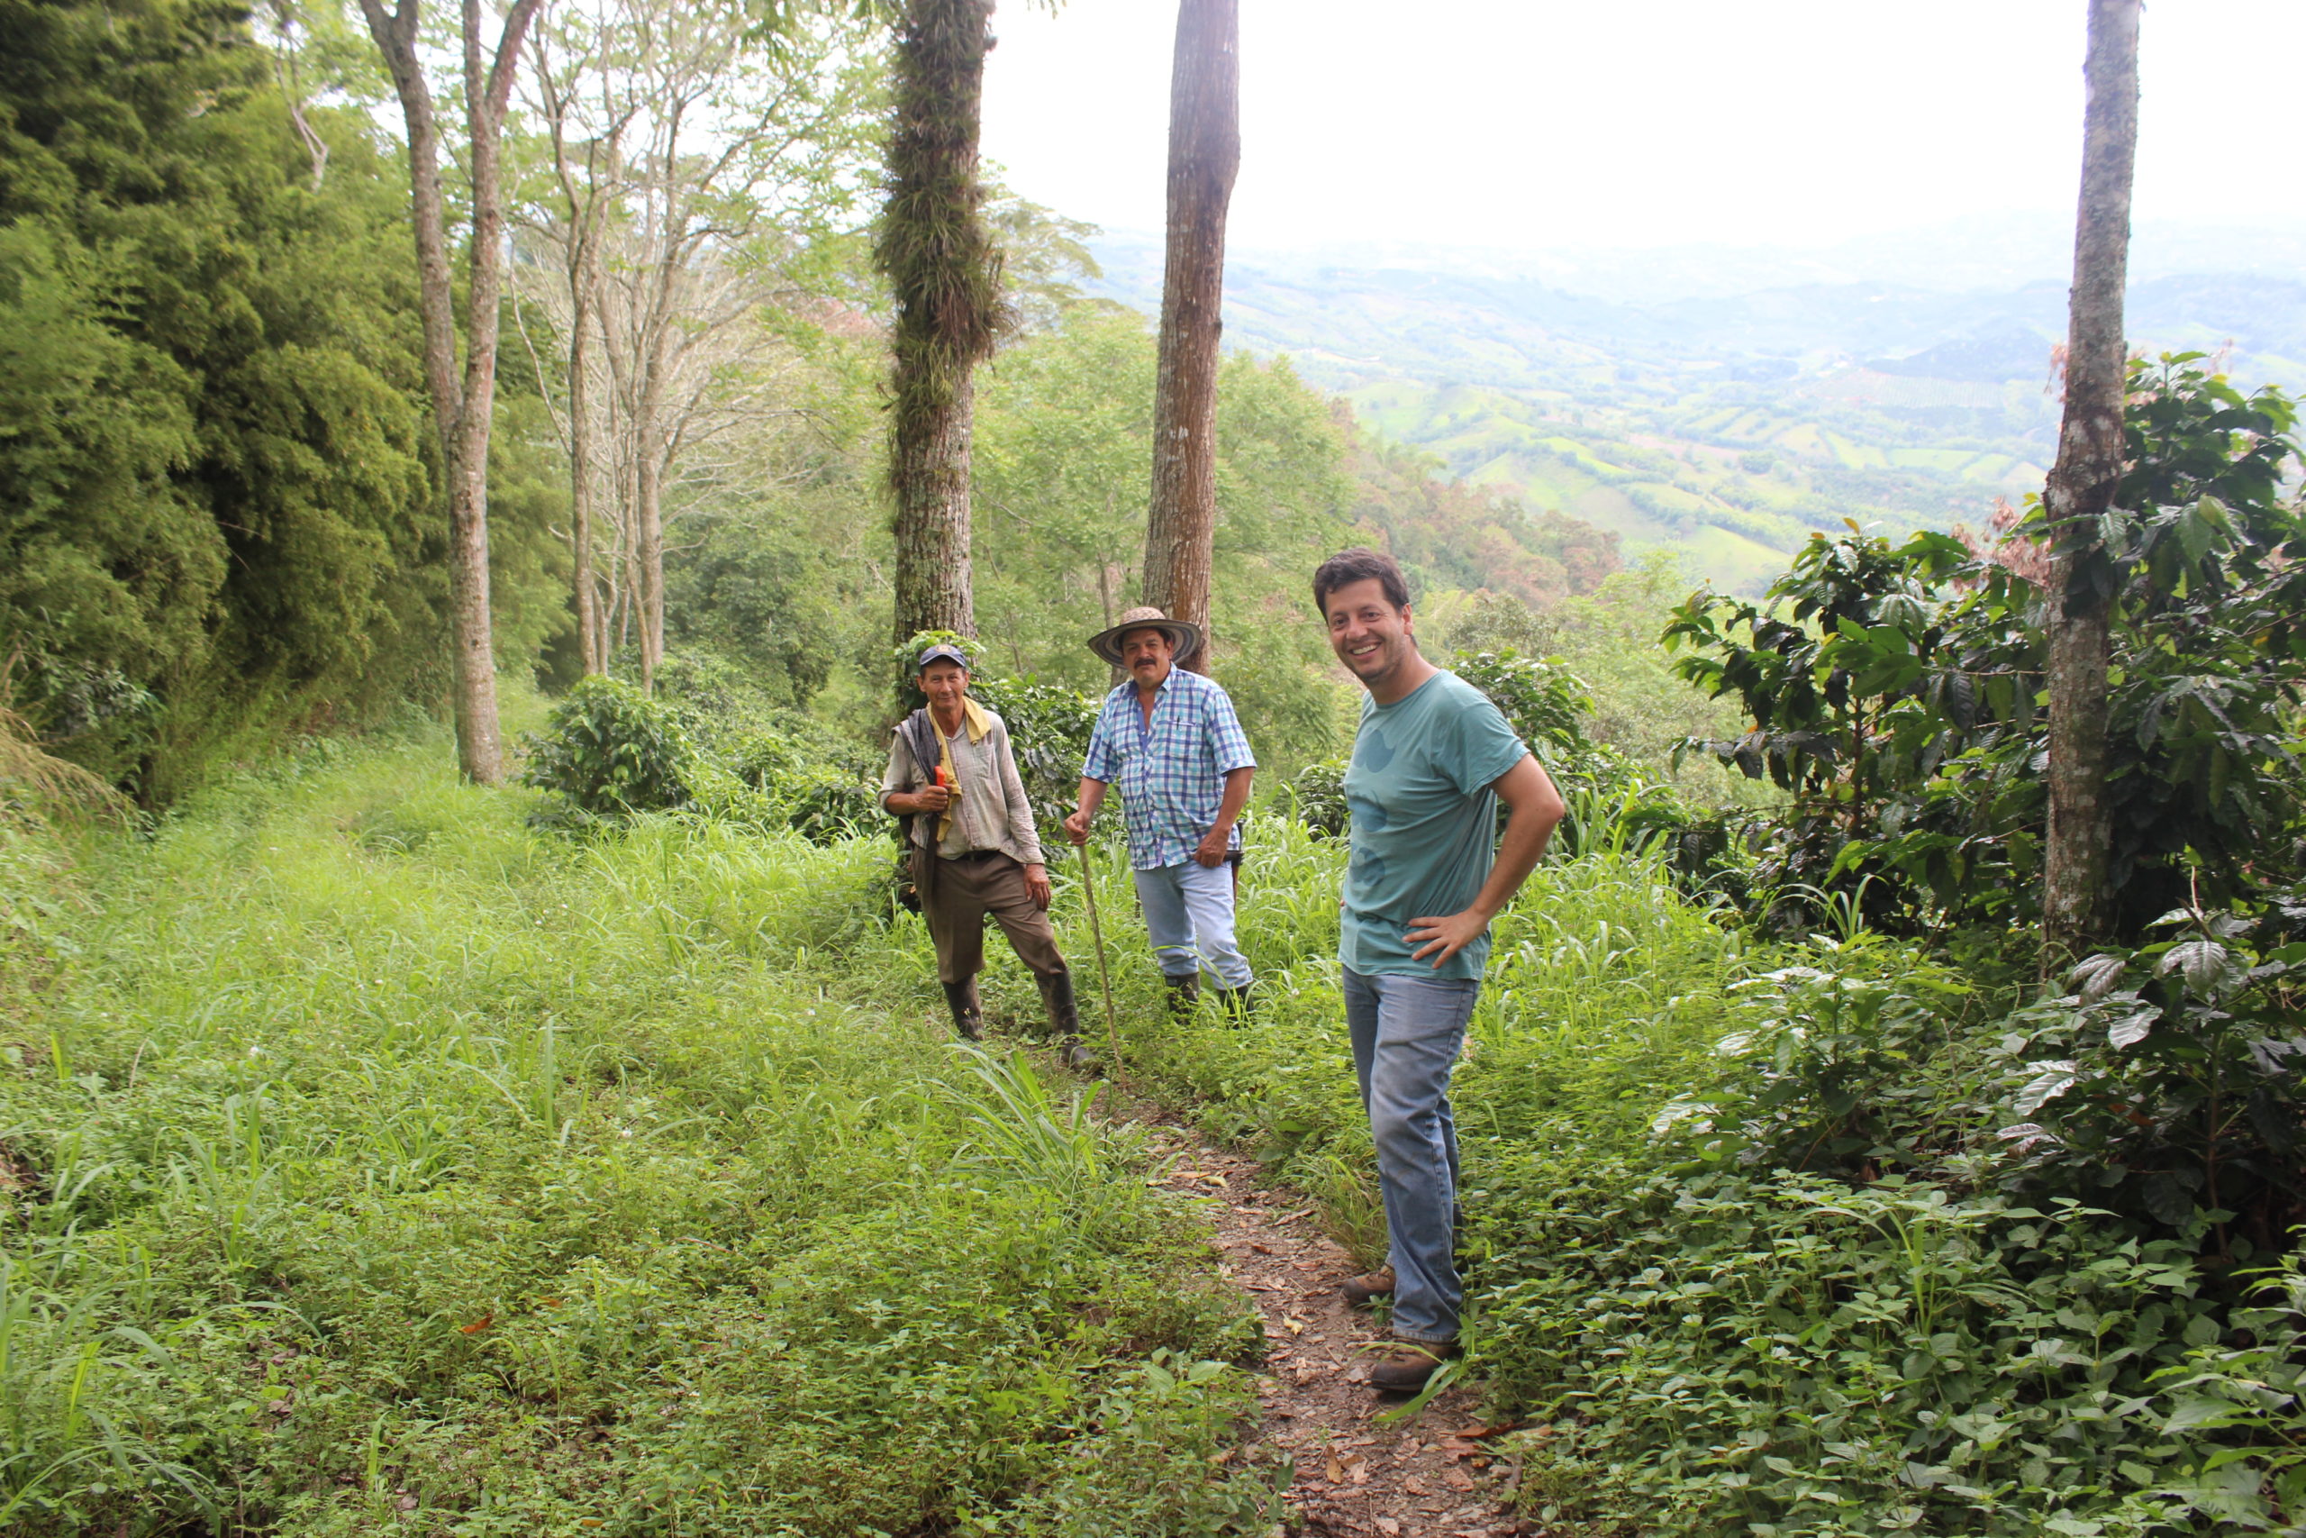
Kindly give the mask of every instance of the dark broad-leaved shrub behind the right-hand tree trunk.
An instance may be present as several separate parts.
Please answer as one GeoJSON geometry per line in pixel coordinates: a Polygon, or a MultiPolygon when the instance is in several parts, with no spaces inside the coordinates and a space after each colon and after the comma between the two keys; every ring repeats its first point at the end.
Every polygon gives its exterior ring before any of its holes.
{"type": "MultiPolygon", "coordinates": [[[[2248,899],[2306,869],[2306,507],[2297,408],[2200,353],[2131,367],[2128,468],[2082,576],[2112,595],[2108,772],[2117,936],[2200,888],[2248,899]]],[[[1794,796],[1757,869],[1764,918],[1861,895],[1907,932],[2041,911],[2050,593],[2039,498],[1997,546],[1817,535],[1755,604],[1697,593],[1665,632],[1683,678],[1753,726],[1690,742],[1794,796]]]]}

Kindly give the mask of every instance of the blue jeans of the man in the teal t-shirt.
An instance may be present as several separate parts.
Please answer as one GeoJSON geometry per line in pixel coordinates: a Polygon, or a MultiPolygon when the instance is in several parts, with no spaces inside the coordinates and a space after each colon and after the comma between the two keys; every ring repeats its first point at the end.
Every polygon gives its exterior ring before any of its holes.
{"type": "Polygon", "coordinates": [[[1457,1125],[1448,1077],[1480,978],[1344,973],[1361,1105],[1377,1144],[1377,1183],[1393,1238],[1393,1333],[1418,1344],[1457,1340],[1464,1284],[1455,1264],[1457,1125]]]}

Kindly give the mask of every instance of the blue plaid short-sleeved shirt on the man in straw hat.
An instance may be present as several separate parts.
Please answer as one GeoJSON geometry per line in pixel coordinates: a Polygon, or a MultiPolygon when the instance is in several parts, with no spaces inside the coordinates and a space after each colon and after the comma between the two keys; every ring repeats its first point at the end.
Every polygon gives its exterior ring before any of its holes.
{"type": "MultiPolygon", "coordinates": [[[[1135,683],[1105,696],[1082,777],[1121,789],[1130,865],[1162,869],[1190,860],[1201,835],[1215,828],[1224,777],[1236,768],[1257,768],[1257,756],[1234,701],[1208,678],[1169,669],[1151,729],[1135,683]]],[[[1241,823],[1234,823],[1231,846],[1241,846],[1241,823]]]]}

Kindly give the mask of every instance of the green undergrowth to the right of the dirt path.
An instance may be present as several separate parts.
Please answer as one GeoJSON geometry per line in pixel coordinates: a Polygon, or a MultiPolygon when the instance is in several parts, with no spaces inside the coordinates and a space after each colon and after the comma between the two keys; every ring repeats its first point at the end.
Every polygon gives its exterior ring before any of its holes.
{"type": "MultiPolygon", "coordinates": [[[[1342,855],[1261,823],[1243,934],[1266,1008],[1146,1051],[1374,1261],[1328,962],[1342,855]]],[[[2018,989],[1718,918],[1593,842],[1499,920],[1453,1102],[1469,1374],[1536,1427],[1524,1506],[1566,1533],[2290,1531],[2294,1264],[2260,1277],[2271,1254],[2211,1243],[2202,1206],[2172,1229],[2048,1188],[2006,1137],[2041,1093],[2018,989]]],[[[2087,1072],[2094,1102],[2156,1088],[2135,1063],[2087,1072]]],[[[2119,1197],[2124,1151],[2089,1153],[2119,1197]]]]}

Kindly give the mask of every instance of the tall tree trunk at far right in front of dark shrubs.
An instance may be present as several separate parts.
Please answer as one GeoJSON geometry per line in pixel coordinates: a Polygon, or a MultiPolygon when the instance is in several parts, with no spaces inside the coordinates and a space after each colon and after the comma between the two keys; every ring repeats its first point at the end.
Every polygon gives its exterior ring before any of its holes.
{"type": "Polygon", "coordinates": [[[2112,819],[2105,798],[2105,669],[2115,570],[2098,517],[2122,480],[2126,348],[2122,291],[2138,159],[2140,0],[2089,0],[2089,106],[2073,233],[2066,415],[2043,503],[2050,572],[2050,830],[2043,844],[2043,962],[2057,968],[2105,925],[2112,819]]]}

